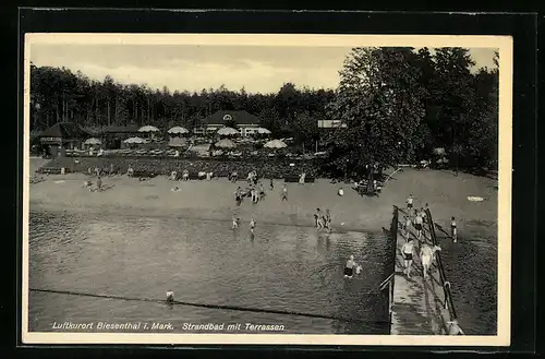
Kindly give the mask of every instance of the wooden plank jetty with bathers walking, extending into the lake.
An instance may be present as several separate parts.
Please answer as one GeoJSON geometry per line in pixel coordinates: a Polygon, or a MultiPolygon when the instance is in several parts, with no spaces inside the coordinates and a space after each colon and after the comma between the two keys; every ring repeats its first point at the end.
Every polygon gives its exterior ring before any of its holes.
{"type": "MultiPolygon", "coordinates": [[[[396,241],[396,271],[390,285],[390,334],[392,335],[445,335],[445,318],[448,310],[445,308],[445,291],[441,286],[439,271],[434,261],[429,268],[429,278],[424,280],[422,264],[419,255],[413,255],[411,279],[403,274],[404,264],[401,247],[405,242],[404,222],[407,212],[399,208],[398,231],[396,241]]],[[[416,231],[411,226],[409,236],[416,239],[416,231]]],[[[426,241],[433,247],[429,220],[423,225],[421,240],[415,240],[416,253],[420,243],[426,241]]]]}

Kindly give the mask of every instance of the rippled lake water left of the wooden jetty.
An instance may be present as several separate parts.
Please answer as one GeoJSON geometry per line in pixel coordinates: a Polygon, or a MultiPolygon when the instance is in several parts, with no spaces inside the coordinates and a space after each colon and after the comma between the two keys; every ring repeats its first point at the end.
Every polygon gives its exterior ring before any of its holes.
{"type": "Polygon", "coordinates": [[[35,289],[304,312],[332,319],[31,291],[29,331],[55,322],[284,325],[282,333],[387,334],[391,268],[384,234],[175,217],[31,213],[29,287],[35,289]],[[363,271],[344,279],[353,254],[363,271]],[[346,321],[349,319],[351,321],[346,321]]]}

